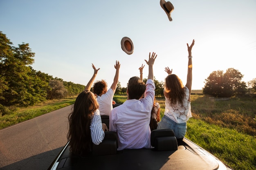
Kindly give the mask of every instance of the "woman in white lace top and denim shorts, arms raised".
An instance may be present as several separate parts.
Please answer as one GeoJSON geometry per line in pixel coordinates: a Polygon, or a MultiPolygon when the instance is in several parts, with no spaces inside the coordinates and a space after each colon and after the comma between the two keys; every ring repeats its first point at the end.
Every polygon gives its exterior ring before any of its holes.
{"type": "Polygon", "coordinates": [[[165,96],[165,111],[162,120],[160,121],[157,129],[169,128],[173,129],[175,137],[183,139],[186,133],[186,121],[189,120],[191,115],[190,94],[192,86],[192,47],[195,41],[188,47],[189,62],[187,82],[184,86],[181,79],[172,74],[169,67],[165,68],[168,76],[165,79],[164,96],[165,96]]]}

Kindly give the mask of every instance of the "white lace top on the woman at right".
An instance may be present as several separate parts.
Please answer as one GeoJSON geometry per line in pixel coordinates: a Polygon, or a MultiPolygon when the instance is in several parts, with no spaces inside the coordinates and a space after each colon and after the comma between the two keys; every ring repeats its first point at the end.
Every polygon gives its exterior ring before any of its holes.
{"type": "Polygon", "coordinates": [[[191,105],[189,99],[189,89],[184,86],[185,97],[182,104],[176,104],[175,107],[170,106],[169,98],[165,97],[165,110],[164,115],[175,121],[176,123],[185,123],[189,120],[191,115],[191,105]]]}

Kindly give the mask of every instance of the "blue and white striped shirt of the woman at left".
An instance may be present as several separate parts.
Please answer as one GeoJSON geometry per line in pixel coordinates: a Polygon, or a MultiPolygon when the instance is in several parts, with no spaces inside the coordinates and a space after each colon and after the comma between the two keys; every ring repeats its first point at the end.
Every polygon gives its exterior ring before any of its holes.
{"type": "Polygon", "coordinates": [[[92,143],[94,143],[95,145],[99,145],[103,141],[105,133],[102,129],[101,115],[99,114],[98,109],[94,112],[94,115],[92,117],[90,130],[92,143]]]}

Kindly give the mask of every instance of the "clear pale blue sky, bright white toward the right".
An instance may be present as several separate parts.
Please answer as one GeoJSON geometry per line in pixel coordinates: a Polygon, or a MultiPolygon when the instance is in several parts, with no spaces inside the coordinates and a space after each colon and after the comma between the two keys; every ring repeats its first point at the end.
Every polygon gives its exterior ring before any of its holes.
{"type": "Polygon", "coordinates": [[[34,70],[75,84],[88,83],[94,64],[100,68],[95,80],[106,80],[110,88],[118,60],[126,87],[155,52],[155,79],[164,82],[168,66],[185,85],[186,43],[193,39],[192,90],[202,89],[213,71],[228,68],[240,71],[244,82],[256,78],[256,0],[171,0],[171,22],[159,2],[0,0],[0,31],[13,46],[29,44],[34,70]],[[121,49],[123,37],[133,42],[131,55],[121,49]]]}

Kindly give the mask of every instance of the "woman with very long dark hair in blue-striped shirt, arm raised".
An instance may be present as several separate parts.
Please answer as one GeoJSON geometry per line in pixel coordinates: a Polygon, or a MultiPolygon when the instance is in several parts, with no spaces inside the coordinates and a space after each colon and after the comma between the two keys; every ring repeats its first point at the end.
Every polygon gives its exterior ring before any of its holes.
{"type": "MultiPolygon", "coordinates": [[[[94,77],[99,69],[94,68],[94,77]]],[[[108,130],[106,124],[101,123],[97,95],[90,92],[94,77],[88,82],[85,91],[80,93],[68,116],[69,131],[67,139],[70,141],[70,151],[75,155],[88,155],[92,151],[92,144],[99,145],[108,130]]]]}

